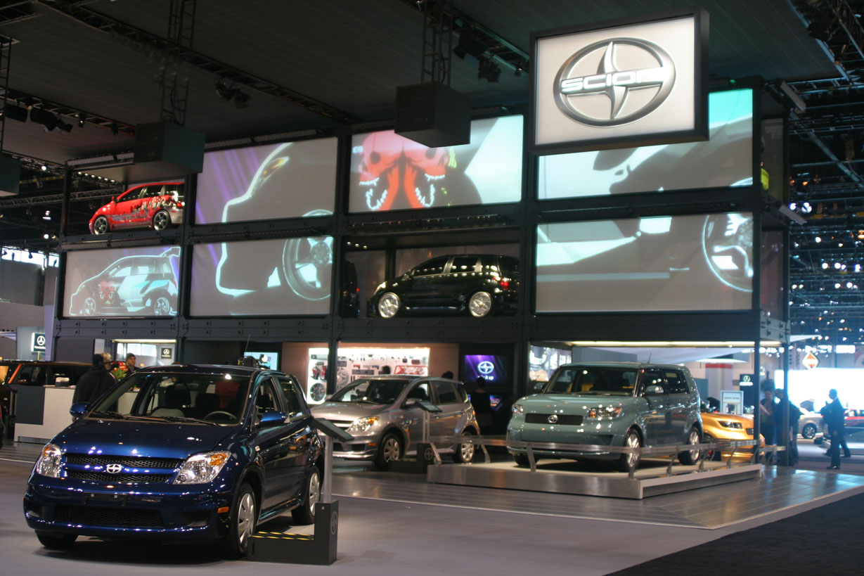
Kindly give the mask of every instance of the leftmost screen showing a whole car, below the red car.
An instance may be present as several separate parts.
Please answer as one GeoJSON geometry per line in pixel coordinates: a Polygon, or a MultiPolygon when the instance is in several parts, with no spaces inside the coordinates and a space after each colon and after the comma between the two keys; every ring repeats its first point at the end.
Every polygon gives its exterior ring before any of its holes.
{"type": "Polygon", "coordinates": [[[180,246],[67,253],[67,317],[177,315],[180,246]]]}

